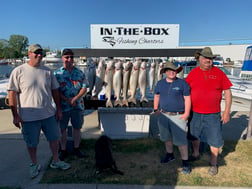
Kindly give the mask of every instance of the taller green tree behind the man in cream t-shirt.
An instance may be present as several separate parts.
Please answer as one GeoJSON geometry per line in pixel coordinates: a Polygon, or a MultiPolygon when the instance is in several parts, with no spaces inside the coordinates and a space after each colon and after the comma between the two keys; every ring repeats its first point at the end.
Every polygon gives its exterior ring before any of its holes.
{"type": "Polygon", "coordinates": [[[9,49],[12,51],[12,58],[21,58],[26,52],[29,40],[23,35],[11,35],[9,39],[9,49]]]}

